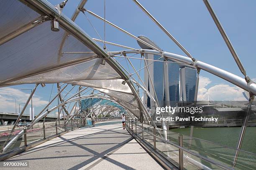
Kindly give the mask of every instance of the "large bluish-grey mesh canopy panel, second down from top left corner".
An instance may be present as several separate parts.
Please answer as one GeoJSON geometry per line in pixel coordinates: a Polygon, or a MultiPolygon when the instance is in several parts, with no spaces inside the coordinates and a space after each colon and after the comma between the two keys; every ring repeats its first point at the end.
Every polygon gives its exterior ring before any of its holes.
{"type": "MultiPolygon", "coordinates": [[[[53,32],[50,29],[50,24],[50,21],[46,21],[13,40],[0,45],[0,72],[2,73],[0,82],[11,78],[23,77],[92,55],[92,53],[62,53],[62,55],[58,55],[65,31],[60,29],[59,32],[53,32]],[[44,34],[41,32],[44,32],[44,34]]],[[[91,52],[88,47],[72,37],[72,35],[67,38],[64,49],[91,52]]]]}

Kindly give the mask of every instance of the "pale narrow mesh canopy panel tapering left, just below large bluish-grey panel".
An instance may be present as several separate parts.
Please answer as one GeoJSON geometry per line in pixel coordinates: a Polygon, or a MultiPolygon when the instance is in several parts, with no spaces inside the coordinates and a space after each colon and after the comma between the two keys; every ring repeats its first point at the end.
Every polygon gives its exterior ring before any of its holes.
{"type": "MultiPolygon", "coordinates": [[[[101,59],[92,59],[87,62],[82,62],[76,65],[71,65],[61,69],[45,72],[39,75],[34,75],[21,80],[6,83],[6,85],[26,84],[26,83],[56,83],[68,82],[89,87],[97,87],[97,85],[106,85],[106,79],[120,78],[115,70],[107,63],[100,64],[101,59]],[[110,74],[111,73],[111,74],[110,74]],[[74,80],[90,80],[78,82],[70,82],[74,80]],[[102,84],[100,84],[102,82],[102,84]]],[[[110,83],[110,82],[109,82],[110,83]]],[[[110,86],[109,84],[106,86],[110,86]]],[[[101,86],[99,86],[101,87],[101,86]]],[[[128,89],[127,89],[128,90],[128,89]]]]}

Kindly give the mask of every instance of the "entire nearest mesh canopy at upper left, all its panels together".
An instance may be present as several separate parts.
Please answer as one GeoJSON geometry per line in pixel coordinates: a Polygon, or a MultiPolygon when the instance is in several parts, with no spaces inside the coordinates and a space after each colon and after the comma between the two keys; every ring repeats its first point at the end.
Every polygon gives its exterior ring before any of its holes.
{"type": "MultiPolygon", "coordinates": [[[[33,28],[25,27],[39,20],[41,15],[21,2],[0,0],[0,41],[3,37],[11,37],[6,42],[2,41],[5,43],[0,43],[0,87],[56,82],[92,87],[139,116],[138,103],[131,88],[122,84],[124,73],[112,61],[100,64],[102,56],[98,55],[107,54],[92,38],[63,14],[61,17],[66,24],[59,22],[58,32],[51,31],[50,20],[34,24],[33,28]],[[20,28],[27,31],[19,31],[20,28]],[[79,33],[73,32],[73,28],[77,28],[79,33]],[[15,31],[18,32],[16,37],[10,36],[15,31]]],[[[33,7],[32,4],[30,6],[33,7]]],[[[34,7],[47,13],[41,7],[34,7]]],[[[49,4],[47,7],[54,8],[49,4]]],[[[61,18],[57,20],[61,21],[61,18]]]]}

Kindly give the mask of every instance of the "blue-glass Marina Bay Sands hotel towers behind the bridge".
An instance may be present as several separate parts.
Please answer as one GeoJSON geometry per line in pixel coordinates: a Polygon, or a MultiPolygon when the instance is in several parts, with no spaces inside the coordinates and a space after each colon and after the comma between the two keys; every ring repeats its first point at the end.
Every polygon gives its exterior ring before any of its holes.
{"type": "MultiPolygon", "coordinates": [[[[154,61],[164,61],[160,55],[145,54],[144,57],[150,59],[146,60],[148,70],[144,69],[144,83],[152,96],[156,94],[160,107],[194,101],[196,69],[175,62],[154,61]]],[[[143,100],[149,108],[154,109],[154,102],[149,97],[145,95],[143,100]]]]}

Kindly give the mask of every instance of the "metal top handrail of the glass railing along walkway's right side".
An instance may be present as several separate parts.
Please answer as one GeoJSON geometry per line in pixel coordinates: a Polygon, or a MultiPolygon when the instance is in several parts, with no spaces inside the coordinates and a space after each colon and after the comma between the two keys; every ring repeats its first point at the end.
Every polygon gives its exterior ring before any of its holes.
{"type": "MultiPolygon", "coordinates": [[[[126,127],[129,128],[128,125],[126,125],[126,127]]],[[[136,127],[136,128],[137,128],[137,127],[136,127]]],[[[204,157],[204,156],[202,156],[202,155],[200,155],[200,154],[198,154],[198,153],[194,153],[194,152],[192,152],[192,151],[190,151],[190,150],[188,150],[188,149],[186,149],[186,148],[183,148],[182,146],[179,146],[179,145],[177,145],[177,144],[175,144],[175,143],[172,143],[172,142],[170,142],[170,141],[168,141],[168,140],[165,140],[165,139],[163,139],[163,138],[160,138],[160,137],[157,136],[157,135],[154,135],[154,134],[152,134],[152,133],[149,133],[148,131],[146,131],[146,130],[140,128],[140,127],[138,127],[138,128],[141,129],[143,132],[146,132],[146,133],[148,133],[149,135],[155,137],[154,140],[156,140],[156,138],[158,138],[158,139],[164,141],[165,143],[168,143],[168,144],[170,144],[170,145],[173,145],[173,146],[175,146],[176,148],[179,148],[180,150],[183,150],[183,151],[185,151],[185,152],[187,152],[187,153],[189,153],[189,154],[191,154],[191,155],[194,155],[194,156],[196,156],[196,157],[198,157],[198,158],[200,158],[200,159],[202,159],[202,160],[207,161],[208,163],[212,163],[212,164],[214,164],[214,165],[216,165],[216,166],[218,166],[218,167],[220,167],[220,168],[223,168],[223,169],[225,169],[225,170],[234,170],[233,168],[230,168],[230,167],[228,167],[228,166],[226,166],[226,165],[223,165],[223,164],[221,164],[221,163],[218,163],[218,162],[216,162],[215,160],[211,160],[211,159],[209,159],[209,158],[206,158],[206,157],[204,157]]],[[[129,130],[131,130],[131,129],[129,128],[129,130]]],[[[132,131],[132,132],[133,132],[133,131],[132,131]]],[[[154,143],[155,143],[155,141],[154,141],[154,143]]],[[[181,155],[179,155],[179,157],[180,157],[180,156],[181,156],[181,155]]]]}

